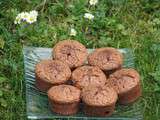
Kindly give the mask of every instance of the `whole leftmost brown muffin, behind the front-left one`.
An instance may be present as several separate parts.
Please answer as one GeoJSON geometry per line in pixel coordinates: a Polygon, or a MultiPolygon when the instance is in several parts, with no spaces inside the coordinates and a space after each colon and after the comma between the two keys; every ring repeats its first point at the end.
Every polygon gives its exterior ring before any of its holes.
{"type": "Polygon", "coordinates": [[[47,91],[53,85],[67,82],[71,70],[67,64],[58,60],[42,60],[35,68],[36,86],[41,91],[47,91]]]}

